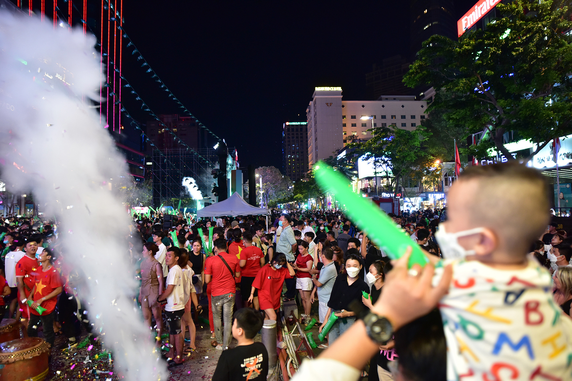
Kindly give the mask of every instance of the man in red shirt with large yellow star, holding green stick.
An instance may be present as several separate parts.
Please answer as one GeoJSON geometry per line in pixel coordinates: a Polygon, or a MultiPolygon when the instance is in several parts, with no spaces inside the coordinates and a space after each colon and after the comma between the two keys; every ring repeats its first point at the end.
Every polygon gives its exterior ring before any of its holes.
{"type": "MultiPolygon", "coordinates": [[[[30,306],[30,323],[28,324],[28,336],[38,336],[38,324],[42,322],[43,337],[46,342],[54,346],[54,318],[57,296],[62,293],[62,281],[59,272],[51,264],[51,252],[44,249],[39,254],[39,263],[42,265],[33,277],[32,289],[27,300],[33,301],[30,306]],[[41,306],[46,310],[40,315],[35,309],[41,306]]],[[[27,305],[27,303],[26,303],[27,305]]]]}

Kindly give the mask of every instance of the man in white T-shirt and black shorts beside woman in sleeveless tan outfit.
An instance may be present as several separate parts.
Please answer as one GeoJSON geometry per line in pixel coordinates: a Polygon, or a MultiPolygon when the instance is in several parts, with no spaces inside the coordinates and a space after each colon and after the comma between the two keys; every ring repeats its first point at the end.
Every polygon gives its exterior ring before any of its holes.
{"type": "Polygon", "coordinates": [[[169,367],[182,364],[184,358],[182,356],[183,339],[181,338],[181,318],[185,313],[185,290],[184,275],[181,267],[178,265],[178,258],[181,249],[174,246],[169,248],[165,254],[165,262],[169,266],[167,275],[167,287],[165,292],[159,295],[157,302],[164,301],[165,316],[167,325],[169,326],[169,352],[167,354],[167,363],[169,367]]]}

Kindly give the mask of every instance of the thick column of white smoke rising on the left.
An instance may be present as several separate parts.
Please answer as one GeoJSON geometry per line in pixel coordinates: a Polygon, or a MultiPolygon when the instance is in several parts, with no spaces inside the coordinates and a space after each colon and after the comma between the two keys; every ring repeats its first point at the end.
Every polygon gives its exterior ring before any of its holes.
{"type": "Polygon", "coordinates": [[[90,102],[104,80],[95,44],[79,29],[0,11],[2,179],[11,192],[32,191],[46,217],[61,222],[65,258],[85,274],[86,309],[113,350],[116,372],[166,380],[133,305],[129,218],[109,184],[125,180],[125,160],[90,102]]]}

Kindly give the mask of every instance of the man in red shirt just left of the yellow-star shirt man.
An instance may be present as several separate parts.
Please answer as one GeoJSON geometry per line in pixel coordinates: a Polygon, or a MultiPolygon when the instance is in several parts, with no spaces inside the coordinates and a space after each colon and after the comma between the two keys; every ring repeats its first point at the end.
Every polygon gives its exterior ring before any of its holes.
{"type": "Polygon", "coordinates": [[[16,286],[18,287],[18,305],[22,311],[22,324],[26,328],[28,326],[28,319],[30,318],[30,308],[25,303],[32,287],[34,287],[34,276],[40,267],[35,257],[37,251],[38,243],[31,240],[31,238],[27,239],[26,246],[24,247],[26,255],[18,261],[15,270],[16,286]]]}

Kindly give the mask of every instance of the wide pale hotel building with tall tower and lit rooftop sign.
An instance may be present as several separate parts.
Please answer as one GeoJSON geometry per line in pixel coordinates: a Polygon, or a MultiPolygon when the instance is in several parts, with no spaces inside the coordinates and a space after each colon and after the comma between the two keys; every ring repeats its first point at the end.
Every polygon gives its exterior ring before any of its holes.
{"type": "Polygon", "coordinates": [[[336,156],[352,136],[353,139],[370,139],[371,131],[367,130],[372,127],[394,125],[413,130],[427,115],[427,102],[415,100],[415,96],[382,95],[378,100],[342,100],[341,92],[341,87],[316,87],[306,109],[310,166],[336,156]]]}

